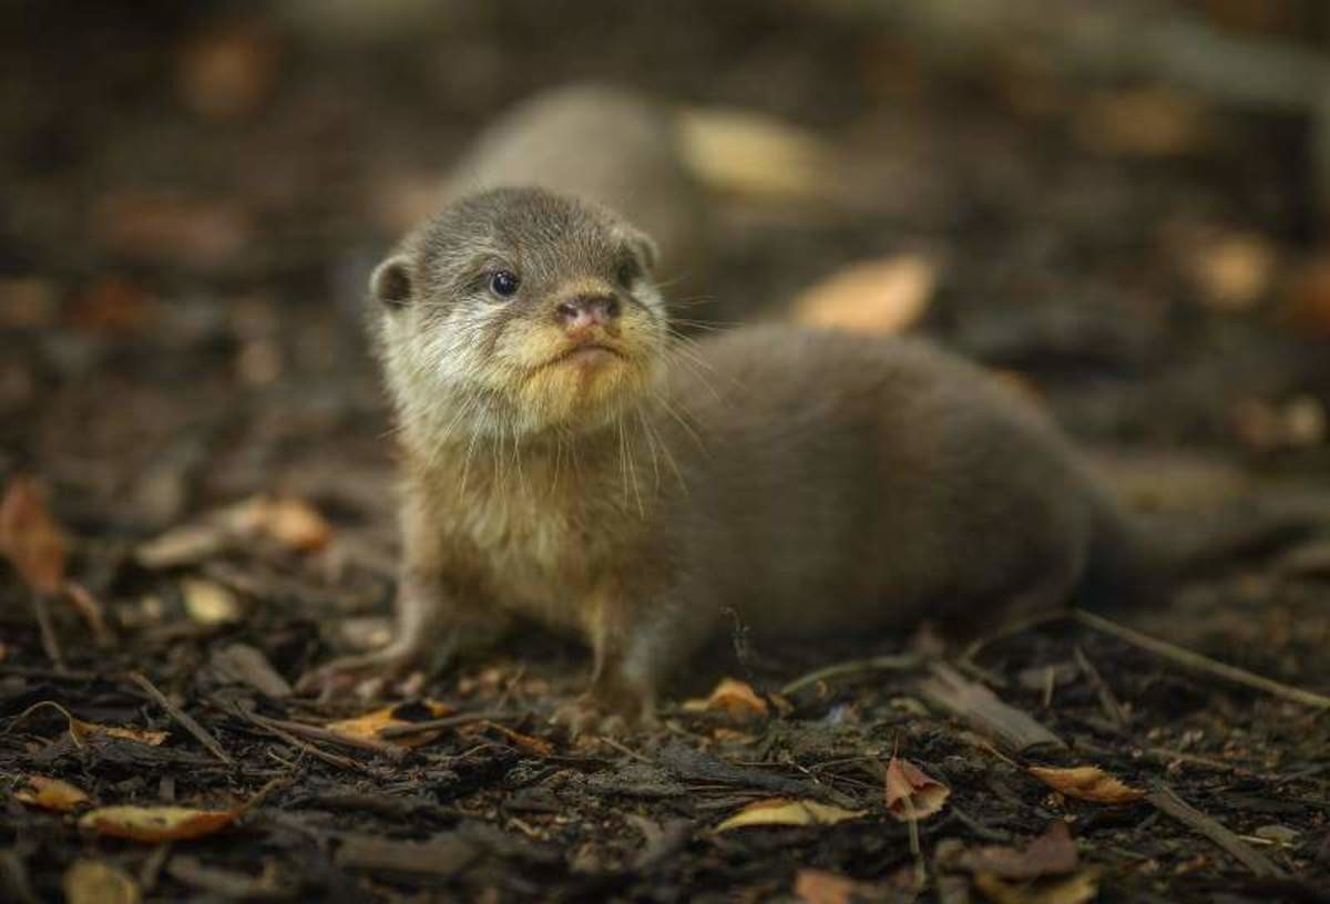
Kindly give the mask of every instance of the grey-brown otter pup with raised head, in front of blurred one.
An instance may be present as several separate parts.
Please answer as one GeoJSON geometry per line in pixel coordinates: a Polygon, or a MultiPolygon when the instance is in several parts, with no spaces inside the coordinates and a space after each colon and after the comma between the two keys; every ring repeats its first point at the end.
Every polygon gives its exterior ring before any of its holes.
{"type": "Polygon", "coordinates": [[[1117,514],[1037,412],[922,343],[672,334],[652,241],[540,189],[462,199],[374,273],[400,427],[403,669],[504,613],[579,634],[575,730],[649,717],[734,609],[863,634],[1068,602],[1117,514]]]}

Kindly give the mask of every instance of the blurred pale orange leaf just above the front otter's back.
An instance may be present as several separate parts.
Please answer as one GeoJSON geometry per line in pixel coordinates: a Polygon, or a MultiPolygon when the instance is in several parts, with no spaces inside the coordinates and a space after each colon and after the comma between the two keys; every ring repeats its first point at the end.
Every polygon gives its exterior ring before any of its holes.
{"type": "Polygon", "coordinates": [[[938,269],[916,254],[857,263],[805,290],[793,319],[875,335],[899,334],[923,318],[938,284],[938,269]]]}

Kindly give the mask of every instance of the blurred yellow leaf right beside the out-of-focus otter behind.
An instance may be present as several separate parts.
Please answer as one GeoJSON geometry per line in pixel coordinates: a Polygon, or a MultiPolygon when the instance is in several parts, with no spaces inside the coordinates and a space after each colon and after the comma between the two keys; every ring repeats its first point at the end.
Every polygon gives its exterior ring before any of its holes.
{"type": "Polygon", "coordinates": [[[680,137],[685,166],[721,191],[817,198],[835,171],[817,134],[750,110],[685,110],[680,137]]]}

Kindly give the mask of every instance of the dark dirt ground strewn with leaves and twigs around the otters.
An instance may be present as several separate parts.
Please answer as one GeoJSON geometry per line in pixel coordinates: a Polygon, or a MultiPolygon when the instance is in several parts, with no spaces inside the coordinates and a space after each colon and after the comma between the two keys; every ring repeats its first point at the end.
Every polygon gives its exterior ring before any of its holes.
{"type": "Polygon", "coordinates": [[[44,512],[69,550],[0,562],[0,897],[1330,900],[1307,125],[1016,52],[946,68],[819,5],[0,12],[8,552],[52,536],[44,512]],[[853,203],[714,199],[726,319],[927,255],[918,328],[1019,380],[1133,505],[1311,529],[1217,557],[1166,608],[974,649],[928,626],[767,649],[738,625],[661,727],[618,740],[549,725],[587,657],[539,631],[416,681],[392,722],[329,729],[404,699],[290,690],[387,627],[366,274],[477,126],[569,78],[761,110],[858,161],[853,203]],[[798,803],[746,810],[773,799],[798,803]],[[85,812],[118,804],[214,816],[85,812]]]}

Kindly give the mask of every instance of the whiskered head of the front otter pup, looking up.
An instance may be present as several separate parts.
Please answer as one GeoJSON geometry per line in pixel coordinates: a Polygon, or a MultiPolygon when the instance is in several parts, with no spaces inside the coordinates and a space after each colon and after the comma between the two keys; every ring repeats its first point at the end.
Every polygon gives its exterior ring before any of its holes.
{"type": "Polygon", "coordinates": [[[610,423],[665,354],[653,263],[632,226],[539,189],[450,207],[371,281],[403,413],[460,437],[610,423]]]}

